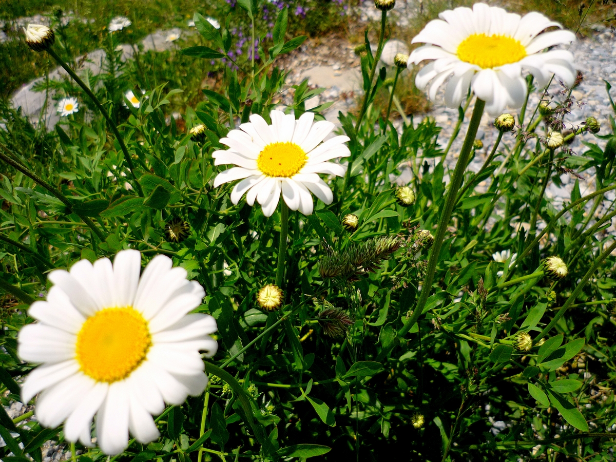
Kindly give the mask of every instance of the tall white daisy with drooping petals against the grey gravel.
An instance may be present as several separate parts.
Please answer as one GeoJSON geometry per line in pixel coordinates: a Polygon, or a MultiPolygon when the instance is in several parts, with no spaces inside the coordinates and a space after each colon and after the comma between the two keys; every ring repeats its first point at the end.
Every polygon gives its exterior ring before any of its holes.
{"type": "Polygon", "coordinates": [[[418,64],[433,60],[422,68],[415,79],[418,88],[436,98],[437,89],[447,79],[445,104],[460,106],[469,86],[485,101],[485,110],[498,115],[506,106],[520,108],[526,97],[522,69],[545,87],[553,74],[571,86],[575,82],[573,55],[565,50],[546,48],[575,41],[567,30],[543,32],[559,27],[544,15],[532,12],[524,17],[483,3],[447,10],[432,20],[413,38],[412,43],[427,45],[415,49],[408,60],[418,64]]]}

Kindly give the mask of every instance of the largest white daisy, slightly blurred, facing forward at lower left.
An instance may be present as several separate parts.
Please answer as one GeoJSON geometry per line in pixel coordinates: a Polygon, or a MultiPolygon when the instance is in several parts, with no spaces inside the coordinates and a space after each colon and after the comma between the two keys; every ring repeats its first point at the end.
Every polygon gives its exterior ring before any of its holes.
{"type": "Polygon", "coordinates": [[[22,401],[34,395],[41,425],[64,422],[68,441],[91,445],[91,424],[102,452],[128,446],[129,431],[140,443],[158,438],[152,415],[165,402],[180,405],[208,383],[200,351],[216,353],[208,334],[216,321],[188,314],[201,303],[203,288],[158,255],[141,277],[141,254],[118,253],[92,265],[81,260],[70,271],[54,270],[46,301],[28,315],[38,322],[22,328],[18,354],[40,363],[22,387],[22,401]]]}

